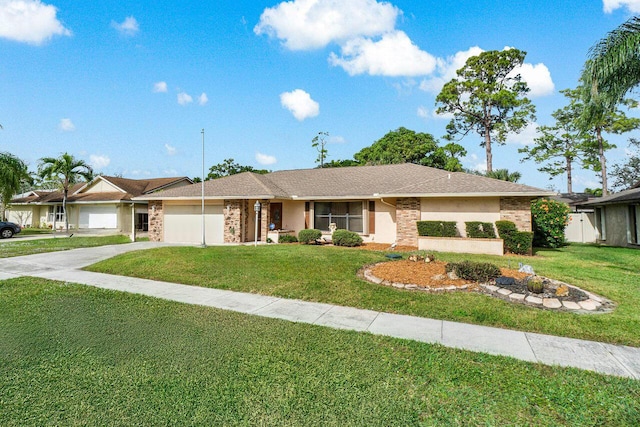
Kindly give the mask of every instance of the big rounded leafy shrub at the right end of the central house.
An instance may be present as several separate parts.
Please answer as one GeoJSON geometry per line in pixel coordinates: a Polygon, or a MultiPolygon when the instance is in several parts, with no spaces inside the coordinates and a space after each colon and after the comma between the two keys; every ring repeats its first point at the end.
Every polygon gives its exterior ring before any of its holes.
{"type": "Polygon", "coordinates": [[[571,209],[566,203],[550,199],[531,202],[533,244],[543,248],[559,248],[565,244],[564,229],[569,224],[571,209]]]}

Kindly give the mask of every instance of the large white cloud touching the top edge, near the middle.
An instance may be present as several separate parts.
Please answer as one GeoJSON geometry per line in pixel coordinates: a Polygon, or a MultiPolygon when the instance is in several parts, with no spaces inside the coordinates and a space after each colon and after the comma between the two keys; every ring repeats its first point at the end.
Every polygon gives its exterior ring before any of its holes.
{"type": "Polygon", "coordinates": [[[265,9],[253,31],[281,40],[290,50],[318,49],[392,31],[401,13],[375,0],[293,0],[265,9]]]}

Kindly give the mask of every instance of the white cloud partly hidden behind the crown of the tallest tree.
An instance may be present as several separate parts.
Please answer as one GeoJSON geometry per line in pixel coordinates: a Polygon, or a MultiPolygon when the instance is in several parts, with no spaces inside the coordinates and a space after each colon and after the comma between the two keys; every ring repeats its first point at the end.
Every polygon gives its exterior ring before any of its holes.
{"type": "MultiPolygon", "coordinates": [[[[505,47],[505,50],[507,49],[510,49],[510,47],[505,47]]],[[[464,66],[467,59],[480,55],[482,52],[484,52],[484,49],[473,46],[468,50],[457,52],[453,56],[438,58],[436,75],[424,79],[420,83],[420,89],[433,94],[440,93],[445,83],[457,77],[456,71],[464,66]]],[[[543,63],[533,65],[525,62],[514,69],[511,74],[520,74],[522,80],[527,82],[530,89],[528,95],[531,98],[553,94],[555,86],[551,79],[551,73],[543,63]]]]}

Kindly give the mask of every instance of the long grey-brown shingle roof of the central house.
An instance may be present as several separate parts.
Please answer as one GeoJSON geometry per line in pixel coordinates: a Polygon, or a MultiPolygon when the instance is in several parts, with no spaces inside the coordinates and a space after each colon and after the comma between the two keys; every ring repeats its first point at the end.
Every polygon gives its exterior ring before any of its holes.
{"type": "MultiPolygon", "coordinates": [[[[205,197],[216,198],[371,198],[442,195],[531,195],[555,193],[466,173],[411,163],[346,168],[298,169],[260,175],[244,172],[206,181],[205,197]]],[[[142,196],[141,200],[199,198],[201,184],[142,196]]]]}

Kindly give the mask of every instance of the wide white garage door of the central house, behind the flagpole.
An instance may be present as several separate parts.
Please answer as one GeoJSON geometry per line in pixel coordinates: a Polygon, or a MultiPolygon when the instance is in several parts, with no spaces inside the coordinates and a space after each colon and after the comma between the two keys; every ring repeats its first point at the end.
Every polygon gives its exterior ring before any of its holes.
{"type": "MultiPolygon", "coordinates": [[[[223,243],[224,216],[222,205],[205,206],[206,243],[223,243]]],[[[165,206],[164,241],[171,243],[202,243],[202,207],[165,206]]]]}

